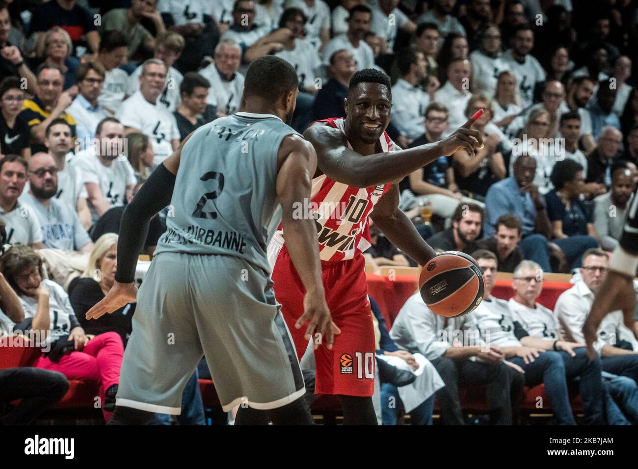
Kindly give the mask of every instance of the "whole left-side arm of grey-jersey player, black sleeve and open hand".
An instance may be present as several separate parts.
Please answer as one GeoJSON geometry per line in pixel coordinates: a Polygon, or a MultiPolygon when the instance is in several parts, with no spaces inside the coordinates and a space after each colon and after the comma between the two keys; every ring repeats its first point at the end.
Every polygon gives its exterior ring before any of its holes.
{"type": "Polygon", "coordinates": [[[151,218],[170,204],[182,148],[191,135],[184,138],[177,150],[152,172],[130,204],[126,205],[117,239],[115,282],[108,294],[87,311],[87,319],[98,319],[106,313],[112,313],[136,301],[137,287],[133,280],[138,253],[144,246],[151,218]]]}

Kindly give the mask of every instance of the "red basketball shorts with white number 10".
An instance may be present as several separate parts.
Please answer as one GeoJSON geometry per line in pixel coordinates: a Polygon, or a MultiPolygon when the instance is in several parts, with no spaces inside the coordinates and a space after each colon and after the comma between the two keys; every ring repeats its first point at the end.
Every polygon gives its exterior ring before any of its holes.
{"type": "MultiPolygon", "coordinates": [[[[323,288],[332,321],[341,329],[332,350],[315,350],[315,394],[372,396],[375,391],[375,332],[367,300],[365,260],[362,255],[341,262],[322,262],[323,288]]],[[[272,269],[272,281],[299,359],[308,348],[308,323],[295,322],[304,313],[304,288],[284,245],[272,269]]],[[[313,338],[317,340],[318,338],[313,338]]]]}

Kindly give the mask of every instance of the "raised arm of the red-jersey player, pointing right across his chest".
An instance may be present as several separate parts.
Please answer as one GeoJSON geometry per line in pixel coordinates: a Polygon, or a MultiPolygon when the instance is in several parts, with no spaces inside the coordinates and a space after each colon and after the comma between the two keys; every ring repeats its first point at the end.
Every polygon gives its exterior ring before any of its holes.
{"type": "Polygon", "coordinates": [[[465,149],[474,156],[475,150],[483,144],[480,132],[471,128],[477,117],[472,116],[440,142],[393,151],[391,155],[380,152],[363,156],[348,148],[343,132],[321,123],[310,126],[304,132],[304,138],[315,147],[317,166],[323,174],[350,186],[366,188],[401,181],[440,156],[450,155],[459,149],[465,149]]]}

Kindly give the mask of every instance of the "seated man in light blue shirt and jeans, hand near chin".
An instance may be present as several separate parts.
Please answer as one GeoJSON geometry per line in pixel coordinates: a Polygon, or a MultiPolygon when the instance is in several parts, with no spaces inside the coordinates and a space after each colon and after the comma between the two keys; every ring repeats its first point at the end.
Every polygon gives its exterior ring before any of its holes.
{"type": "Polygon", "coordinates": [[[536,260],[543,271],[551,272],[547,251],[551,223],[547,217],[545,200],[532,182],[535,174],[536,160],[523,154],[514,163],[512,175],[489,188],[485,198],[483,235],[486,238],[494,236],[496,222],[501,216],[516,216],[523,223],[523,239],[519,246],[523,250],[524,258],[536,260]]]}

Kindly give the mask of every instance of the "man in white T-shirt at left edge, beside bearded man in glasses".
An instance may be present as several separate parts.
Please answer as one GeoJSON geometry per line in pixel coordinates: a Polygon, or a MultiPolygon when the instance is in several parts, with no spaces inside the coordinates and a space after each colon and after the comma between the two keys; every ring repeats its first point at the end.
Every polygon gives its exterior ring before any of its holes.
{"type": "Polygon", "coordinates": [[[18,197],[27,182],[27,162],[20,156],[8,155],[0,160],[0,220],[4,221],[8,244],[28,244],[43,248],[42,229],[38,217],[18,197]]]}

